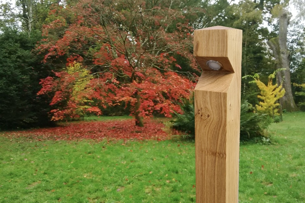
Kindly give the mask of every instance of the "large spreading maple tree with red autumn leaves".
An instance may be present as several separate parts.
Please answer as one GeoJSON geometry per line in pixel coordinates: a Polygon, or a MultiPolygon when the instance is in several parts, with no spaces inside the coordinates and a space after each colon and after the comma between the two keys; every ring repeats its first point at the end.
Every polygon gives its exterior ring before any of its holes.
{"type": "Polygon", "coordinates": [[[196,76],[175,71],[181,66],[174,55],[198,67],[190,51],[192,28],[184,20],[188,11],[178,6],[80,0],[51,10],[36,50],[45,63],[60,67],[66,61],[66,68],[41,80],[38,94],[52,96],[52,119],[101,114],[100,108],[122,103],[130,104],[138,126],[143,117],[179,112],[196,76]]]}

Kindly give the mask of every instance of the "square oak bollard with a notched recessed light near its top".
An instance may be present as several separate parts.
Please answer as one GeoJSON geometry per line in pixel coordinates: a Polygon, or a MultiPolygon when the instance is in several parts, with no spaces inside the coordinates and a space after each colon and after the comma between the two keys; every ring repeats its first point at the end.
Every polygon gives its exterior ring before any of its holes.
{"type": "Polygon", "coordinates": [[[194,31],[196,203],[237,203],[242,30],[194,31]]]}

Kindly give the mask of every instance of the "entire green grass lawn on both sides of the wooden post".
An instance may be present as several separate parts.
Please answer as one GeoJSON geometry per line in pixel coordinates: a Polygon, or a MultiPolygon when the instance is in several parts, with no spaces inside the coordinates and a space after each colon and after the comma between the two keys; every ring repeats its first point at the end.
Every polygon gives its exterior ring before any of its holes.
{"type": "MultiPolygon", "coordinates": [[[[305,202],[305,113],[240,146],[240,202],[305,202]]],[[[29,141],[0,133],[0,203],[195,202],[194,142],[29,141]]]]}

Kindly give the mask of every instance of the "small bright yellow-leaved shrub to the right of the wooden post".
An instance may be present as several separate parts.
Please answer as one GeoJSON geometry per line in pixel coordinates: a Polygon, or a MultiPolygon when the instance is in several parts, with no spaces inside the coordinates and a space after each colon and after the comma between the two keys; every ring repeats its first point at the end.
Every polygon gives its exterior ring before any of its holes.
{"type": "MultiPolygon", "coordinates": [[[[278,69],[277,71],[280,70],[281,69],[278,69]]],[[[255,82],[257,87],[260,89],[260,95],[257,95],[257,97],[261,99],[259,105],[256,105],[256,109],[257,111],[269,114],[272,117],[274,115],[279,115],[278,106],[280,104],[277,101],[285,94],[285,89],[282,85],[278,86],[277,84],[273,85],[272,83],[277,71],[274,71],[269,75],[267,85],[260,81],[260,76],[258,74],[253,76],[253,82],[255,82]]]]}

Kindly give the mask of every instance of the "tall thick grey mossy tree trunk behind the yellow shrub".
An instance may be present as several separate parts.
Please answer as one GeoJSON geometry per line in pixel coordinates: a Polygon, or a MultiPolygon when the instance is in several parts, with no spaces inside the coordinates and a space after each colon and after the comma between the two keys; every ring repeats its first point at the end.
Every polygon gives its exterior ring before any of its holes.
{"type": "Polygon", "coordinates": [[[287,48],[288,24],[289,16],[287,11],[283,9],[279,16],[278,37],[269,40],[268,45],[273,51],[276,59],[276,68],[285,68],[284,71],[279,71],[276,75],[278,85],[282,84],[283,88],[285,88],[285,95],[280,99],[282,109],[287,111],[297,111],[298,108],[293,100],[290,80],[289,51],[287,48]]]}

